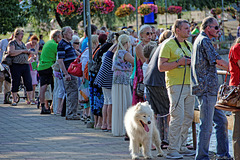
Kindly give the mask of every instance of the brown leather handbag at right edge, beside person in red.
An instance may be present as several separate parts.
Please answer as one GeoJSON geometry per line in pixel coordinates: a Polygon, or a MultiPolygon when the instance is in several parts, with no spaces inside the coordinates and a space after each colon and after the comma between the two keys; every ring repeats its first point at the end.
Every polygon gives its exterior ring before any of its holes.
{"type": "Polygon", "coordinates": [[[229,71],[226,73],[224,83],[219,87],[215,108],[225,111],[240,111],[240,86],[226,84],[228,73],[229,71]]]}

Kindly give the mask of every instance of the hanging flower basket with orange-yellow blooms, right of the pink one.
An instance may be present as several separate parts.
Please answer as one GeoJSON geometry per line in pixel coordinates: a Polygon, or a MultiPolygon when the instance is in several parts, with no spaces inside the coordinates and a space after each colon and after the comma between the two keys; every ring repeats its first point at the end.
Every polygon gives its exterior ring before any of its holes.
{"type": "Polygon", "coordinates": [[[135,7],[131,4],[122,4],[120,7],[117,8],[115,15],[117,17],[125,17],[129,16],[135,11],[135,7]]]}

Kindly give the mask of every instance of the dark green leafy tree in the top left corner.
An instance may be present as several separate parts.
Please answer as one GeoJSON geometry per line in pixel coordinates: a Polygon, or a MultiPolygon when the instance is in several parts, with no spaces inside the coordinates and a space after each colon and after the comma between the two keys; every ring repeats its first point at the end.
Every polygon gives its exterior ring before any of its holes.
{"type": "Polygon", "coordinates": [[[18,0],[1,0],[0,30],[2,34],[12,32],[27,23],[27,9],[20,8],[18,0]]]}

